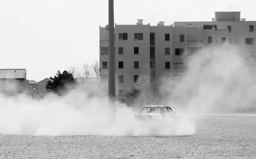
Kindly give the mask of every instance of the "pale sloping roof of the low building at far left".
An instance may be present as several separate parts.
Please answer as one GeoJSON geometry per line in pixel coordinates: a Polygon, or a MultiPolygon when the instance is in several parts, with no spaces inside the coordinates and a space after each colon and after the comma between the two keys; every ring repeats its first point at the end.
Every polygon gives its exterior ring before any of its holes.
{"type": "Polygon", "coordinates": [[[26,69],[0,69],[0,79],[26,79],[26,69]]]}

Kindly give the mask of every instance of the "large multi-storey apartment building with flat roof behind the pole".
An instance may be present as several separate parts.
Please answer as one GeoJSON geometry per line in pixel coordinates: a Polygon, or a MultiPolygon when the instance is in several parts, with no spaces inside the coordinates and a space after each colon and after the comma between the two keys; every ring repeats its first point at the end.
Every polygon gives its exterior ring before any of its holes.
{"type": "MultiPolygon", "coordinates": [[[[132,88],[141,78],[156,88],[163,80],[182,76],[187,59],[206,48],[229,43],[239,45],[244,58],[256,56],[256,21],[240,18],[240,12],[215,12],[207,22],[174,22],[165,25],[115,25],[116,95],[132,88]]],[[[108,93],[108,26],[99,27],[101,89],[108,93]]]]}

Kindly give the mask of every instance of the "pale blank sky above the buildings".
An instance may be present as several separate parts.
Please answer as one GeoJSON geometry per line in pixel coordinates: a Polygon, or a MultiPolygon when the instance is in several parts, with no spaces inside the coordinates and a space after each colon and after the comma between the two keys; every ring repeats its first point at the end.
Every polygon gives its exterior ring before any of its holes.
{"type": "MultiPolygon", "coordinates": [[[[114,0],[114,22],[211,21],[229,6],[256,20],[254,0],[114,0]]],[[[39,82],[91,64],[99,60],[99,26],[107,24],[108,0],[0,0],[0,68],[26,68],[27,79],[39,82]]]]}

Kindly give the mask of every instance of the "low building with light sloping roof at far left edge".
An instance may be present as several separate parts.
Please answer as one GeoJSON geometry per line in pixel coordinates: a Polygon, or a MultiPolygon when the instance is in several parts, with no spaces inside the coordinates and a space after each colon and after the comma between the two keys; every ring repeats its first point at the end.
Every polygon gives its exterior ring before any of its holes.
{"type": "Polygon", "coordinates": [[[26,93],[26,69],[0,69],[0,93],[17,95],[26,93]]]}

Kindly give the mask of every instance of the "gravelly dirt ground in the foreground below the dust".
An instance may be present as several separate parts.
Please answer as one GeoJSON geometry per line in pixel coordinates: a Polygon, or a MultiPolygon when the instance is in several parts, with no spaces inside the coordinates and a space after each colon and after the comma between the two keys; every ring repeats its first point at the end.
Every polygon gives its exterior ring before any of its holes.
{"type": "Polygon", "coordinates": [[[0,135],[1,159],[255,159],[256,114],[211,114],[191,136],[0,135]]]}

